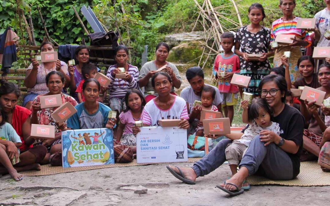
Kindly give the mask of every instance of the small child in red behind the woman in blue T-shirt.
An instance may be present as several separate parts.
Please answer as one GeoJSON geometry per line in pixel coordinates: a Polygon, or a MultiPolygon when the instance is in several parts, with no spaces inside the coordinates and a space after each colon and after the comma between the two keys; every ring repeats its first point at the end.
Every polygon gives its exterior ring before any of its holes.
{"type": "MultiPolygon", "coordinates": [[[[85,98],[82,95],[82,84],[85,82],[86,79],[90,79],[90,78],[94,78],[95,75],[97,74],[97,67],[93,64],[84,64],[82,66],[82,77],[83,79],[80,81],[76,92],[77,92],[77,97],[78,97],[78,101],[79,103],[85,102],[85,98]]],[[[103,94],[102,98],[99,98],[97,101],[98,102],[102,102],[103,99],[105,98],[105,96],[107,95],[107,90],[105,87],[101,87],[101,94],[103,94]]]]}

